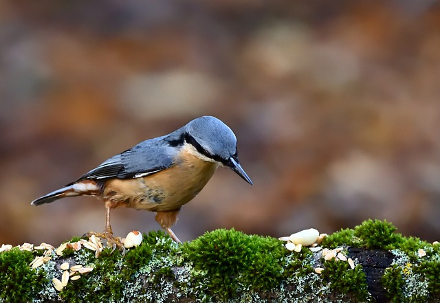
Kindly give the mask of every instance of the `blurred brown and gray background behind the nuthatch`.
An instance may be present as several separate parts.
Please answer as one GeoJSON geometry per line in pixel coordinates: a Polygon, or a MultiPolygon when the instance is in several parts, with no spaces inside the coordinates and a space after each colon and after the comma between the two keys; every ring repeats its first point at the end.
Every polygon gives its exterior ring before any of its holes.
{"type": "Polygon", "coordinates": [[[94,198],[30,201],[199,115],[234,130],[254,186],[218,170],[181,240],[367,218],[440,238],[438,1],[1,1],[0,42],[0,243],[101,231],[94,198]]]}

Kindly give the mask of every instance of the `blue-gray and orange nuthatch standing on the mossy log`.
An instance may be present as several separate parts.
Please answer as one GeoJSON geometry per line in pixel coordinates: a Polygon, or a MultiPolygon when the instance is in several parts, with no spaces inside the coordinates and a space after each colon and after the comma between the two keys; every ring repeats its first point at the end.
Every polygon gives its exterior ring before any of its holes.
{"type": "Polygon", "coordinates": [[[168,135],[148,139],[115,155],[64,188],[32,201],[51,203],[73,196],[95,196],[105,202],[104,233],[108,245],[121,246],[113,237],[110,209],[132,207],[156,212],[155,219],[180,243],[171,230],[182,205],[208,183],[218,166],[225,166],[252,184],[239,164],[236,137],[216,117],[203,116],[168,135]]]}

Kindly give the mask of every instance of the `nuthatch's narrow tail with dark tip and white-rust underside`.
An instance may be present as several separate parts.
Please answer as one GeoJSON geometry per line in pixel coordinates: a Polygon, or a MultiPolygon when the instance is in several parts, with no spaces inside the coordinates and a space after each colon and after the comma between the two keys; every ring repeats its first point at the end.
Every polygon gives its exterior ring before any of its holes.
{"type": "Polygon", "coordinates": [[[54,190],[43,197],[39,197],[32,201],[32,205],[41,205],[45,203],[52,203],[55,200],[64,197],[75,197],[75,196],[96,196],[100,194],[101,187],[98,183],[92,180],[84,180],[78,183],[72,183],[59,190],[54,190]]]}

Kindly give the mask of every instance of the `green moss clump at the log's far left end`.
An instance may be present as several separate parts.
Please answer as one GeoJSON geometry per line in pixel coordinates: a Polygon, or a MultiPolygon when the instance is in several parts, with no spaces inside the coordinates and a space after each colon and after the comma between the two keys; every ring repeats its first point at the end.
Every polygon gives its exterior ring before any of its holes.
{"type": "Polygon", "coordinates": [[[18,247],[0,254],[0,298],[4,302],[32,302],[43,290],[44,274],[29,266],[33,259],[30,251],[18,247]]]}

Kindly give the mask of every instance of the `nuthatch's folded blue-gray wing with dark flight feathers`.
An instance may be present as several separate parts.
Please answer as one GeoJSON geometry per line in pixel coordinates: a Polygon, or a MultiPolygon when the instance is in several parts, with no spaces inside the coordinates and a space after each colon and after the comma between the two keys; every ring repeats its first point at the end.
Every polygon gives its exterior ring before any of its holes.
{"type": "Polygon", "coordinates": [[[139,178],[169,168],[173,165],[174,150],[161,140],[162,137],[159,137],[141,142],[102,162],[74,183],[86,179],[139,178]]]}

